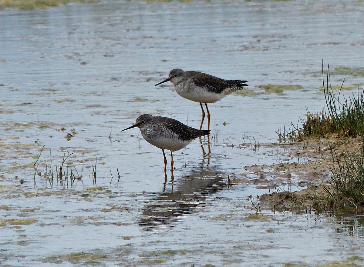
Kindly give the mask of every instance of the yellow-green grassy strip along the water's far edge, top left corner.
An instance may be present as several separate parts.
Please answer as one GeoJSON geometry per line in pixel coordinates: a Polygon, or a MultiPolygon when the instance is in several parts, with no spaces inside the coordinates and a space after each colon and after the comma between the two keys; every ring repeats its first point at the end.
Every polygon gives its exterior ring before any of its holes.
{"type": "Polygon", "coordinates": [[[96,0],[0,0],[0,9],[12,8],[20,10],[29,10],[34,8],[47,9],[50,7],[59,7],[70,2],[75,3],[94,3],[96,0]]]}

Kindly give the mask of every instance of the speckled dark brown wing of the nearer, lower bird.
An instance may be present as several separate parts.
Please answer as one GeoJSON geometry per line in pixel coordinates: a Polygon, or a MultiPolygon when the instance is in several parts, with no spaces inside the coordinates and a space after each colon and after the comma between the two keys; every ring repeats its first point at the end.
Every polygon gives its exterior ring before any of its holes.
{"type": "Polygon", "coordinates": [[[179,122],[178,120],[167,117],[161,118],[163,118],[163,125],[165,125],[166,128],[170,129],[175,134],[177,134],[179,139],[181,139],[182,141],[192,140],[200,136],[208,135],[210,133],[210,130],[195,129],[179,122]]]}

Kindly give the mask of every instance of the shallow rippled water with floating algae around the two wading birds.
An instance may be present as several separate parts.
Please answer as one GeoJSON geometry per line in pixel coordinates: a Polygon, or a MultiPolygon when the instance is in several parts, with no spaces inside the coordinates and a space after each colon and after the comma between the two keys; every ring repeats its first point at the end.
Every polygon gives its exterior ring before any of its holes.
{"type": "MultiPolygon", "coordinates": [[[[271,191],[227,184],[259,176],[245,166],[309,160],[266,143],[306,107],[323,109],[322,59],[362,67],[363,9],[357,1],[112,1],[0,11],[0,264],[282,266],[364,256],[362,218],[250,216],[251,201],[271,191]],[[256,95],[209,105],[211,154],[203,138],[205,153],[198,140],[175,152],[172,182],[159,149],[138,129],[120,131],[142,113],[199,126],[198,103],[168,83],[154,87],[177,67],[246,79],[256,95]],[[302,89],[255,87],[264,84],[302,89]],[[63,168],[82,179],[44,179],[68,154],[63,168]],[[29,218],[37,221],[11,220],[29,218]],[[85,263],[71,252],[106,258],[85,263]]],[[[363,77],[345,84],[362,87],[363,77]]],[[[299,189],[300,179],[281,186],[299,189]]]]}

